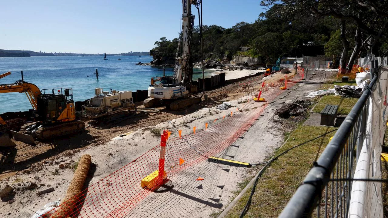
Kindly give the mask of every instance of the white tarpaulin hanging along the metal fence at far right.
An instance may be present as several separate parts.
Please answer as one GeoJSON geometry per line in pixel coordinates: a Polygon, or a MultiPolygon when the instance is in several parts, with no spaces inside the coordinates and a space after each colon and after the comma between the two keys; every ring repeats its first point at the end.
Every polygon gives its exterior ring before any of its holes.
{"type": "MultiPolygon", "coordinates": [[[[379,71],[379,78],[367,102],[367,126],[364,142],[358,145],[355,179],[381,180],[381,147],[386,128],[386,95],[388,68],[379,71]]],[[[382,218],[383,202],[381,182],[357,181],[352,184],[349,205],[350,218],[382,218]]]]}

